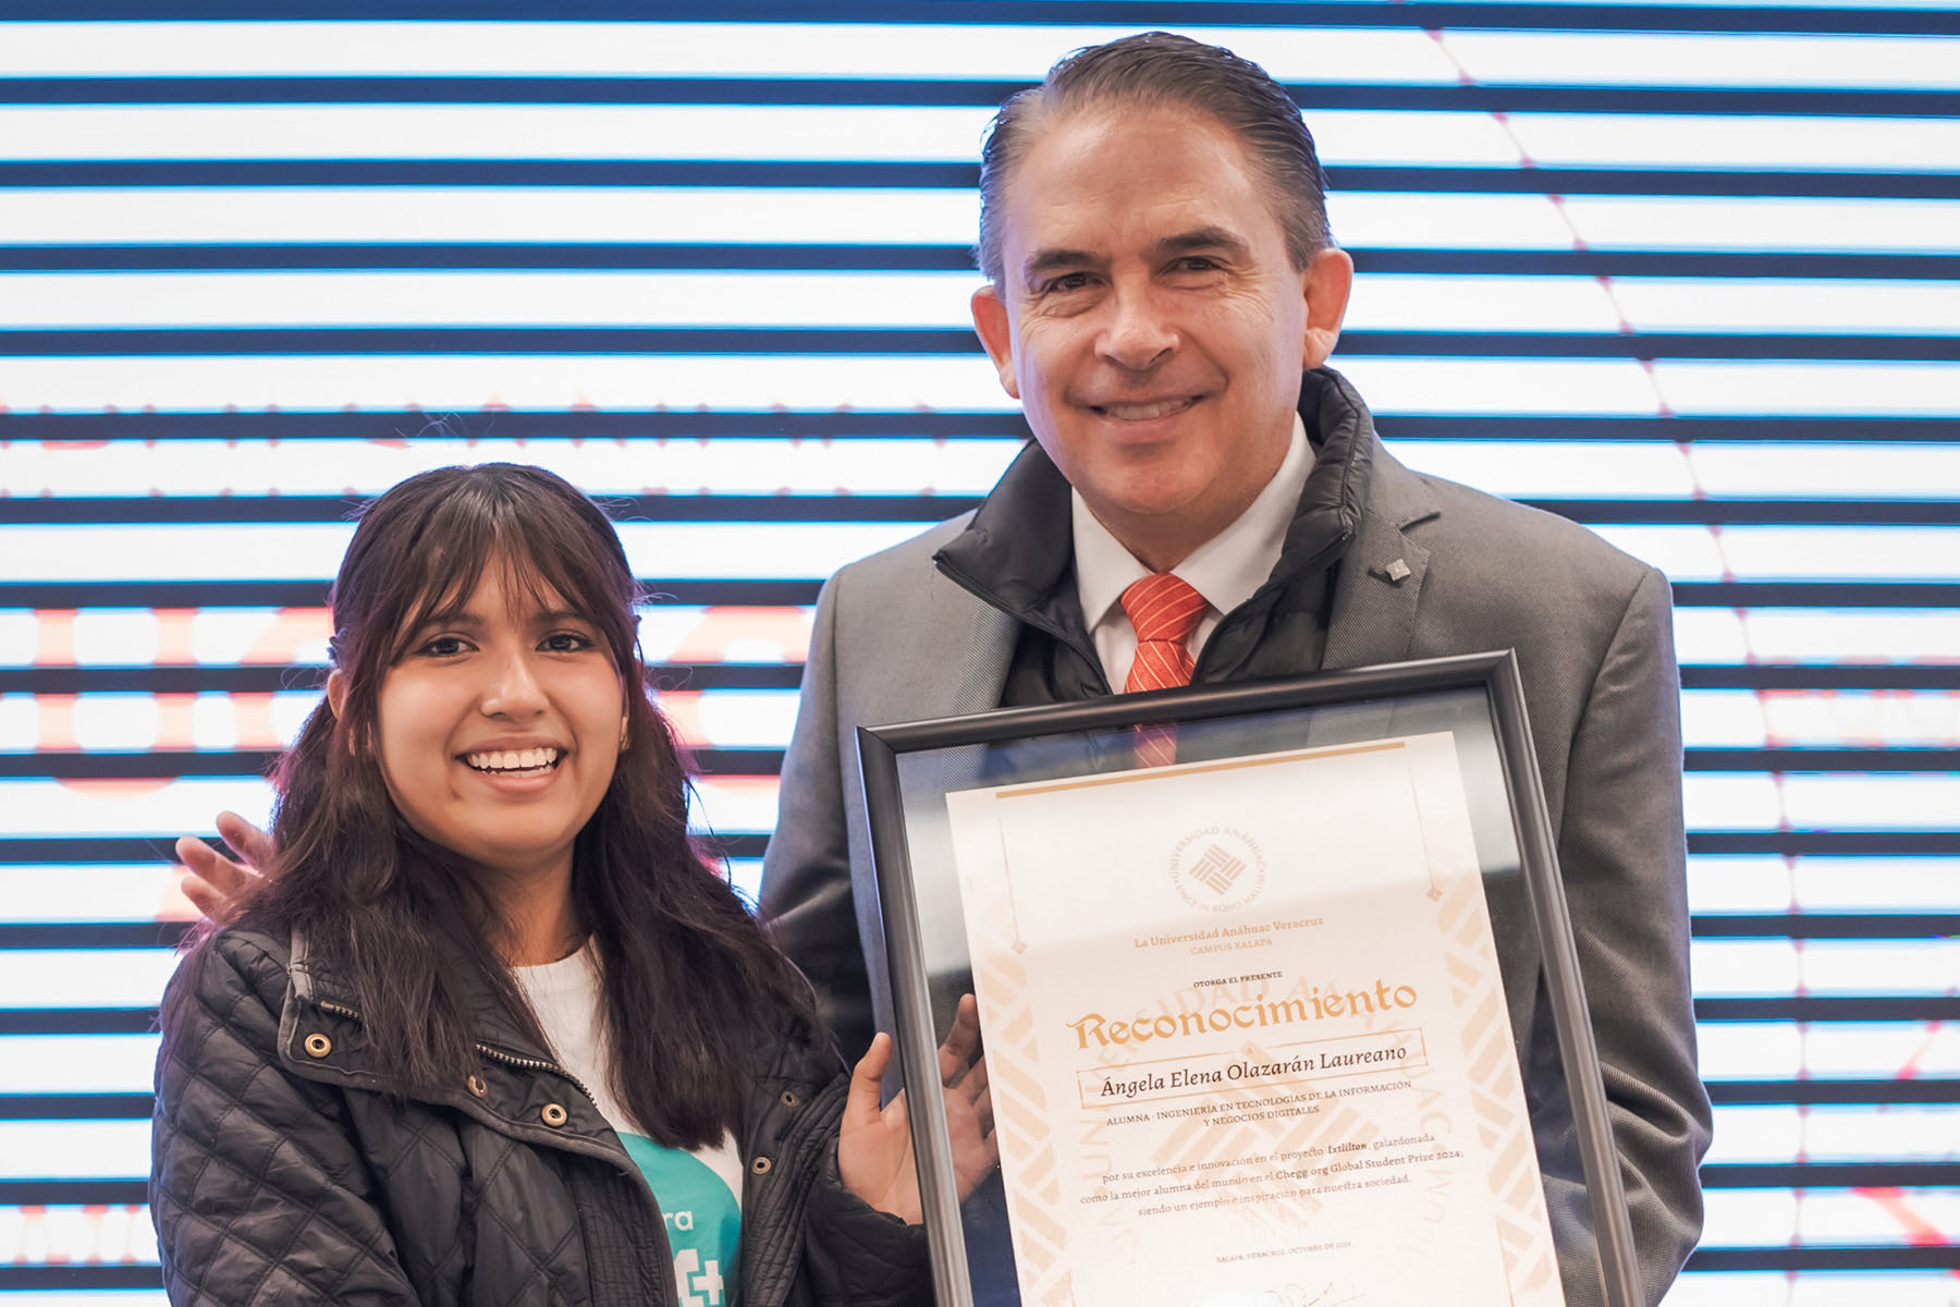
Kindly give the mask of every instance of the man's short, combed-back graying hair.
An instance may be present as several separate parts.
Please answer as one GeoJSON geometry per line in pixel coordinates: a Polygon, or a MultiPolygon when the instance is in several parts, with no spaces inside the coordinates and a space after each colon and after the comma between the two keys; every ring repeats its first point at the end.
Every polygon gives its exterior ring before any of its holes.
{"type": "Polygon", "coordinates": [[[1327,184],[1313,135],[1299,106],[1266,71],[1229,49],[1168,31],[1090,45],[1064,57],[1043,78],[1013,94],[994,114],[980,147],[980,243],[974,261],[996,286],[1002,280],[1002,212],[1021,159],[1053,118],[1105,106],[1186,108],[1207,114],[1239,137],[1286,233],[1296,270],[1333,245],[1327,229],[1327,184]]]}

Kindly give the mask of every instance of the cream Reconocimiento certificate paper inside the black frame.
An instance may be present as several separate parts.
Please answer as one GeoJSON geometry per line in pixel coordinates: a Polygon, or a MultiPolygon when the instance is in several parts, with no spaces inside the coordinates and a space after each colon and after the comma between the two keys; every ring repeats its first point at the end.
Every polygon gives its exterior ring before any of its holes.
{"type": "Polygon", "coordinates": [[[947,809],[1023,1303],[1564,1303],[1448,735],[947,809]]]}

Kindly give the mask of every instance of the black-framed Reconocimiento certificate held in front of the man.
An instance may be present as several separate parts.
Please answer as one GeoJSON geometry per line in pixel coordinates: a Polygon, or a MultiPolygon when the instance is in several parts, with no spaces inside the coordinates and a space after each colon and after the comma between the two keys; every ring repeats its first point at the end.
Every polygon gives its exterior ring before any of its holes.
{"type": "Polygon", "coordinates": [[[943,1307],[1641,1301],[1509,651],[858,747],[943,1307]]]}

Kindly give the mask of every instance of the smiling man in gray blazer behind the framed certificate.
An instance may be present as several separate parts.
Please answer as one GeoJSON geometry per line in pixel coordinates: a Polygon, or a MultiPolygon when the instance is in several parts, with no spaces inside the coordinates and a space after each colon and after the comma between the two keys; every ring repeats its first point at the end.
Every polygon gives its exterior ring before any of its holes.
{"type": "MultiPolygon", "coordinates": [[[[974,325],[1035,445],[974,513],[825,586],[762,872],[776,939],[847,1048],[888,1025],[855,727],[1135,688],[1123,596],[1152,574],[1201,598],[1172,639],[1198,684],[1511,647],[1658,1301],[1709,1140],[1666,580],[1382,451],[1323,366],[1352,265],[1313,143],[1254,65],[1164,33],[1064,59],[1002,108],[980,188],[974,325]]],[[[1531,931],[1494,917],[1507,976],[1535,976],[1531,931]]],[[[1550,1019],[1529,986],[1511,1019],[1544,1152],[1570,1129],[1550,1019]]],[[[1554,1223],[1582,1221],[1546,1176],[1554,1223]]]]}

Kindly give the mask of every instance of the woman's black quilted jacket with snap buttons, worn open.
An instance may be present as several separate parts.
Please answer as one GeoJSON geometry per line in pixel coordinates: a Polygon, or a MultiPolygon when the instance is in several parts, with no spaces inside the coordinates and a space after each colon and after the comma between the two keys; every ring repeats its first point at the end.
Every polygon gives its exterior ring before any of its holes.
{"type": "Polygon", "coordinates": [[[759,1041],[741,1283],[676,1295],[664,1221],[590,1097],[480,1003],[478,1076],[384,1097],[304,944],[251,929],[163,1003],[151,1213],[184,1303],[929,1307],[917,1227],[839,1187],[835,1054],[759,1041]]]}

